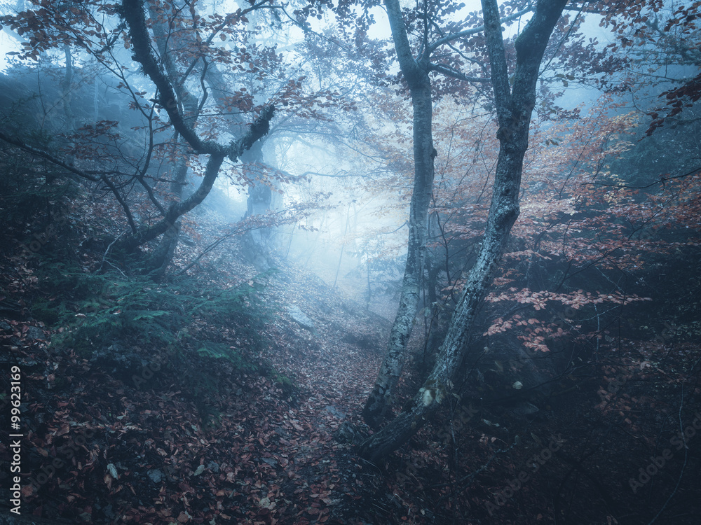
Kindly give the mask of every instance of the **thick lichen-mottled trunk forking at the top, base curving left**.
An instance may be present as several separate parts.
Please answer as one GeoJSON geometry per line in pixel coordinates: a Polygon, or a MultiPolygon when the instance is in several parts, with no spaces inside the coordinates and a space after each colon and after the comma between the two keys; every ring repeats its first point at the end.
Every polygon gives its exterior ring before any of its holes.
{"type": "Polygon", "coordinates": [[[482,248],[449,323],[433,371],[412,402],[385,428],[367,439],[360,454],[379,461],[426,423],[453,393],[453,379],[463,358],[470,329],[491,284],[512,225],[519,216],[523,158],[528,148],[531,112],[536,101],[538,68],[545,45],[566,0],[539,0],[533,18],[517,38],[517,64],[510,88],[496,0],[482,0],[491,81],[499,121],[499,156],[482,248]]]}

